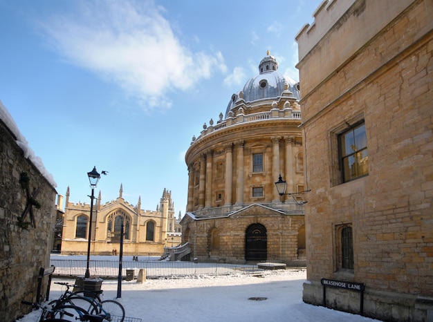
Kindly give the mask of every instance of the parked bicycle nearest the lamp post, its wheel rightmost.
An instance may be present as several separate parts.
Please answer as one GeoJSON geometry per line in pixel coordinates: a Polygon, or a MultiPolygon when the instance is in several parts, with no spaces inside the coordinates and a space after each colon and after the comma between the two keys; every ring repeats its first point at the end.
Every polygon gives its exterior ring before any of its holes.
{"type": "Polygon", "coordinates": [[[81,290],[77,292],[71,292],[69,289],[71,287],[79,288],[80,286],[75,284],[68,284],[64,282],[55,282],[58,285],[66,286],[66,291],[60,299],[56,301],[52,301],[51,303],[77,303],[77,301],[81,301],[80,305],[83,305],[83,308],[89,312],[89,314],[103,314],[104,320],[110,322],[123,322],[125,319],[125,308],[118,301],[114,300],[104,300],[100,299],[100,294],[102,294],[102,290],[99,291],[88,291],[81,290]],[[82,301],[86,299],[86,301],[82,301]]]}

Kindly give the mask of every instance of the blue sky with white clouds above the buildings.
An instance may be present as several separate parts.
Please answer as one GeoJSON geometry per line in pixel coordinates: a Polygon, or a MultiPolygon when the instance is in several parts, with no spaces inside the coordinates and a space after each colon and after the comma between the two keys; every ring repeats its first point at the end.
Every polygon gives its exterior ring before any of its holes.
{"type": "Polygon", "coordinates": [[[295,35],[321,0],[0,0],[0,100],[70,201],[185,214],[185,151],[270,50],[299,80],[295,35]]]}

